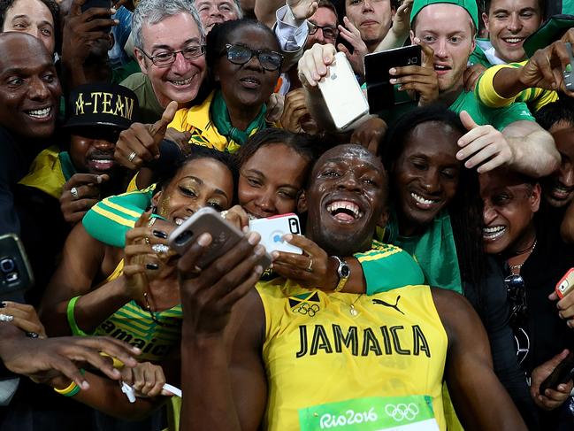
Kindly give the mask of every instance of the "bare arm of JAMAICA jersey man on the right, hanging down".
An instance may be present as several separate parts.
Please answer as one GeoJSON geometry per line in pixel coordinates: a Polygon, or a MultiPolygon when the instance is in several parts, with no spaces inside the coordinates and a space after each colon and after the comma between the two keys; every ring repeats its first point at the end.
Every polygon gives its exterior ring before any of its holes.
{"type": "Polygon", "coordinates": [[[432,289],[432,299],[448,335],[445,377],[464,429],[525,430],[494,374],[488,337],[471,304],[445,289],[432,289]]]}

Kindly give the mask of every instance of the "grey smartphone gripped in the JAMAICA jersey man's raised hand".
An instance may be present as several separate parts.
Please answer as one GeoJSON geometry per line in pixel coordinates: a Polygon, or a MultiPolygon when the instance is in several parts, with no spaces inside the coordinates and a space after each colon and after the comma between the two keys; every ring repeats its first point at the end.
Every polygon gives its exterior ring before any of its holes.
{"type": "MultiPolygon", "coordinates": [[[[199,235],[206,232],[211,235],[212,240],[207,250],[203,252],[202,258],[197,262],[200,268],[210,265],[219,256],[231,250],[243,237],[241,231],[223,219],[218,212],[211,208],[202,208],[177,227],[170,234],[167,242],[172,250],[181,255],[188,250],[199,235]]],[[[271,262],[271,256],[265,253],[258,263],[266,269],[271,266],[271,262]]]]}

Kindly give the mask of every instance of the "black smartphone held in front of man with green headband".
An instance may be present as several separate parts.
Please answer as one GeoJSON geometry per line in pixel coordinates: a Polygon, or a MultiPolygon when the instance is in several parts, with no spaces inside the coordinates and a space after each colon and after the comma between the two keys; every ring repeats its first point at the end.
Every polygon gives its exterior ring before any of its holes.
{"type": "Polygon", "coordinates": [[[364,56],[364,78],[367,84],[369,112],[377,113],[392,108],[395,104],[408,102],[405,97],[399,99],[394,95],[394,85],[389,82],[392,67],[421,65],[422,50],[420,45],[410,45],[394,50],[374,52],[364,56]]]}

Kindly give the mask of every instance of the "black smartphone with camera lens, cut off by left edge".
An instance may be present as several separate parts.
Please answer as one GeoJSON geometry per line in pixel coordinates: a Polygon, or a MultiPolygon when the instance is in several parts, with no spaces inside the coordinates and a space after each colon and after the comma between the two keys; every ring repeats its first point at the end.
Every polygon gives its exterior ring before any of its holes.
{"type": "Polygon", "coordinates": [[[34,285],[34,274],[17,235],[0,236],[0,297],[34,285]]]}

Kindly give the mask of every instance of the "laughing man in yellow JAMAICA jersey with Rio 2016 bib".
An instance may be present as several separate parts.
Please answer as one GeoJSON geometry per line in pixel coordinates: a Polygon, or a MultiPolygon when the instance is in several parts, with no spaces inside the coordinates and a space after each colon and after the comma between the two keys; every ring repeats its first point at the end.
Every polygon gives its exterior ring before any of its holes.
{"type": "MultiPolygon", "coordinates": [[[[312,170],[307,236],[341,261],[338,288],[350,275],[341,257],[371,246],[386,190],[380,160],[358,145],[328,150],[312,170]]],[[[443,379],[463,426],[525,429],[463,296],[428,286],[341,294],[283,278],[253,289],[258,235],[198,273],[209,242],[200,236],[179,263],[180,429],[444,430],[443,379]]]]}

